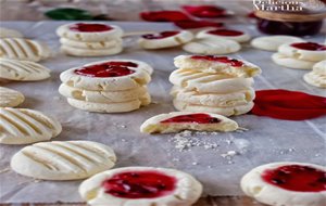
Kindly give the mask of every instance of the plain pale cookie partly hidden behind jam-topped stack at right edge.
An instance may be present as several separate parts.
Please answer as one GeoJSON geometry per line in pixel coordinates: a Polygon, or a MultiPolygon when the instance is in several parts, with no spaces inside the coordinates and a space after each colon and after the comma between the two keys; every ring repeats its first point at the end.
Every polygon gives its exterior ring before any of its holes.
{"type": "Polygon", "coordinates": [[[266,50],[266,51],[277,51],[278,47],[284,43],[293,43],[304,41],[299,37],[286,36],[286,35],[275,35],[266,37],[258,37],[251,41],[251,46],[255,49],[266,50]]]}

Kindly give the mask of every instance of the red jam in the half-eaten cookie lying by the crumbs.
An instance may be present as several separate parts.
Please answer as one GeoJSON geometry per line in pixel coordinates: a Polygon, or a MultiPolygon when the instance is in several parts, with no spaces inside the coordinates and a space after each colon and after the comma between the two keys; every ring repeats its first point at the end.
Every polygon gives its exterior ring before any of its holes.
{"type": "Polygon", "coordinates": [[[176,117],[172,117],[161,123],[196,123],[196,124],[216,124],[220,123],[221,119],[211,117],[208,114],[193,114],[193,115],[180,115],[176,117]]]}

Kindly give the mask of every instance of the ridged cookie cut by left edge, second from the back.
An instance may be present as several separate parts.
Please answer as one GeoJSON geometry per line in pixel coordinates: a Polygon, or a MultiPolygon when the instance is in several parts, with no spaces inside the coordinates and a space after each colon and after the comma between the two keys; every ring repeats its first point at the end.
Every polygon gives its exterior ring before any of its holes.
{"type": "Polygon", "coordinates": [[[29,61],[0,57],[0,78],[16,81],[37,81],[50,77],[50,69],[29,61]]]}

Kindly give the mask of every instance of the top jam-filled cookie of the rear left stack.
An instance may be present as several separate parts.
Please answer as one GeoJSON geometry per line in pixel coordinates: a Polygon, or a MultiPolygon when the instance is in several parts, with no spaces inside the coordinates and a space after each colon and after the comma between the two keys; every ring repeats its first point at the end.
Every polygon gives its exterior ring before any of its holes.
{"type": "Polygon", "coordinates": [[[118,26],[103,23],[72,23],[60,26],[57,35],[75,41],[110,41],[121,38],[123,30],[118,26]]]}

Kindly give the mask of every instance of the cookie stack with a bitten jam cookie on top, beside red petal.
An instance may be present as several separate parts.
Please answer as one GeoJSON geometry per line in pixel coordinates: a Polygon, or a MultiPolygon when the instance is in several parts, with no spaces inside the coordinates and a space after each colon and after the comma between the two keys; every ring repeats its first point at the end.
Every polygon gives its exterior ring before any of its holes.
{"type": "Polygon", "coordinates": [[[252,108],[252,77],[261,73],[256,65],[216,55],[179,55],[174,64],[171,94],[178,111],[231,116],[252,108]]]}

